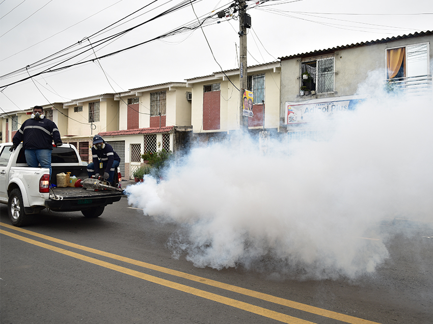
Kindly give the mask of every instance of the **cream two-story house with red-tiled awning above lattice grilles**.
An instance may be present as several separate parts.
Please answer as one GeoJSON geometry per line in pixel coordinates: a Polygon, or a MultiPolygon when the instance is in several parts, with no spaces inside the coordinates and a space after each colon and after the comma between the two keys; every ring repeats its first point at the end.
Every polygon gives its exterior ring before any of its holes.
{"type": "Polygon", "coordinates": [[[143,164],[143,153],[162,149],[174,152],[188,141],[191,89],[186,83],[134,88],[114,95],[114,100],[119,106],[119,127],[98,133],[112,145],[121,143],[122,175],[132,178],[143,164]]]}

